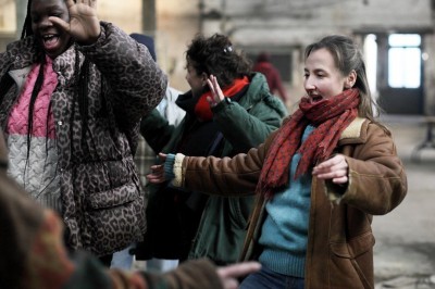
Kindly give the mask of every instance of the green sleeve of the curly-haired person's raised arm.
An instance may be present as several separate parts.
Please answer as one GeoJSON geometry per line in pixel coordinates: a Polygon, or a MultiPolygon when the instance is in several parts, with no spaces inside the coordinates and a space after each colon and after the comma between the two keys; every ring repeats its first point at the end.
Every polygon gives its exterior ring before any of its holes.
{"type": "Polygon", "coordinates": [[[213,109],[213,121],[236,153],[256,148],[279,127],[285,110],[273,109],[266,101],[248,110],[237,102],[222,101],[213,109]]]}

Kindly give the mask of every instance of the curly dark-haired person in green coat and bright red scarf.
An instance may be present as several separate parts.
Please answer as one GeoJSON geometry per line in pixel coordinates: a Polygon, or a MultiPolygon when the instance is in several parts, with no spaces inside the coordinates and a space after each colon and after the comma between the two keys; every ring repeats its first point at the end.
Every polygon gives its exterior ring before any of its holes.
{"type": "MultiPolygon", "coordinates": [[[[261,143],[286,115],[262,74],[252,73],[244,53],[220,34],[195,37],[186,51],[186,80],[190,90],[176,100],[186,111],[174,127],[156,110],[144,117],[140,133],[154,152],[228,156],[261,143]],[[211,99],[210,81],[220,85],[224,101],[211,99]]],[[[253,197],[210,197],[173,188],[147,186],[148,230],[144,259],[207,256],[215,264],[234,263],[243,246],[253,197]],[[147,256],[148,254],[148,256],[147,256]]]]}

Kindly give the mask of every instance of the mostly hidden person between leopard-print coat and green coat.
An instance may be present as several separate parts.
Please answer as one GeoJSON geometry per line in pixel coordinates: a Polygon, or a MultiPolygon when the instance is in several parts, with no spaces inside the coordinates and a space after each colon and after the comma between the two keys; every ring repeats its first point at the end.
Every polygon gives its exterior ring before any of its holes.
{"type": "MultiPolygon", "coordinates": [[[[157,62],[157,54],[156,54],[156,47],[154,47],[154,39],[148,35],[142,35],[138,33],[133,33],[129,35],[133,39],[135,39],[138,43],[141,43],[148,48],[153,61],[157,62]]],[[[167,120],[170,125],[177,126],[183,117],[185,116],[186,112],[176,105],[175,100],[176,98],[182,95],[183,92],[171,87],[167,84],[166,92],[164,98],[157,106],[157,110],[160,114],[167,120]]],[[[139,136],[137,150],[135,154],[135,163],[138,169],[138,176],[140,180],[141,188],[144,192],[146,191],[145,185],[147,184],[146,175],[149,173],[149,167],[151,164],[156,162],[156,153],[147,144],[142,136],[139,136]]],[[[147,196],[145,196],[148,199],[147,196]]],[[[113,260],[111,267],[112,268],[123,268],[123,269],[130,269],[134,261],[135,255],[135,248],[139,247],[138,251],[140,251],[141,242],[134,243],[126,249],[116,252],[113,254],[113,260]]],[[[140,259],[140,255],[139,255],[140,259]]],[[[166,272],[177,266],[176,260],[159,260],[152,259],[148,260],[146,263],[146,267],[149,271],[156,272],[166,272]]]]}

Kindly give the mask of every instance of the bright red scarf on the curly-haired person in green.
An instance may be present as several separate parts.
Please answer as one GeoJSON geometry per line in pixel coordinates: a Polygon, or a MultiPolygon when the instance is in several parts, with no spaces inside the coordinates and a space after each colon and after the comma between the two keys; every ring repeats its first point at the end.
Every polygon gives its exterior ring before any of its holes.
{"type": "MultiPolygon", "coordinates": [[[[249,79],[245,76],[244,78],[234,80],[234,83],[231,86],[225,87],[222,92],[225,97],[232,98],[248,84],[249,79]]],[[[210,109],[209,102],[207,101],[207,97],[212,98],[211,91],[203,93],[195,105],[195,114],[202,121],[211,121],[213,118],[213,113],[210,109]]]]}

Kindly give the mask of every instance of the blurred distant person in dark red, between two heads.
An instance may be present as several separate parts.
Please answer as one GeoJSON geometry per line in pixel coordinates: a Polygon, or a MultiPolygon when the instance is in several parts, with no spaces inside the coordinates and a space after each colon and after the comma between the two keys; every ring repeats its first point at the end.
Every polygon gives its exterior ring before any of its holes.
{"type": "Polygon", "coordinates": [[[271,63],[271,55],[269,52],[262,51],[257,56],[257,62],[252,67],[252,71],[262,73],[268,80],[269,89],[272,93],[277,93],[284,103],[289,101],[287,91],[281,80],[278,70],[271,63]]]}

